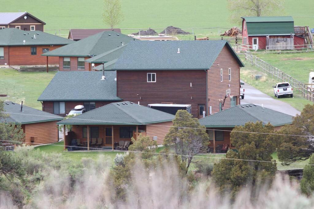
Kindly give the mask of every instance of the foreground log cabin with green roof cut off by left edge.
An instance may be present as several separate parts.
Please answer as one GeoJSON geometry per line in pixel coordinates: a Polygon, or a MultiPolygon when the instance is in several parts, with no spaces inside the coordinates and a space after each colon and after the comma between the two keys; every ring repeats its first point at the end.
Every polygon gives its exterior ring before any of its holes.
{"type": "Polygon", "coordinates": [[[26,144],[58,142],[57,122],[63,119],[61,116],[21,106],[14,102],[4,102],[4,110],[8,117],[2,118],[0,122],[21,124],[26,144]]]}

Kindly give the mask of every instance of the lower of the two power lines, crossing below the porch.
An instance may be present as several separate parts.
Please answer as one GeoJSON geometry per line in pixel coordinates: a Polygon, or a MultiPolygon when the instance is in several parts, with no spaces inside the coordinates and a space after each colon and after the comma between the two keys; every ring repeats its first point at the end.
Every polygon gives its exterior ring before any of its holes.
{"type": "MultiPolygon", "coordinates": [[[[0,141],[5,141],[5,142],[14,142],[14,143],[28,143],[28,144],[41,144],[41,145],[51,145],[51,146],[61,146],[64,147],[64,145],[59,145],[59,144],[43,144],[43,143],[35,143],[35,142],[19,142],[19,141],[10,141],[10,140],[2,140],[0,141]]],[[[75,147],[78,148],[77,146],[68,146],[67,147],[75,147]]],[[[79,147],[79,148],[84,148],[88,149],[88,147],[79,147]]],[[[108,150],[104,148],[89,148],[89,149],[97,149],[97,150],[105,150],[107,152],[133,152],[133,153],[145,153],[145,154],[161,154],[161,155],[172,155],[172,156],[184,156],[184,157],[197,157],[197,158],[210,158],[210,159],[227,159],[227,160],[239,160],[239,161],[249,161],[249,162],[263,162],[263,163],[286,163],[286,162],[280,162],[280,161],[266,161],[266,160],[250,160],[250,159],[236,159],[236,158],[222,158],[222,157],[208,157],[208,156],[197,156],[197,155],[184,155],[184,154],[171,154],[171,153],[156,153],[156,152],[143,152],[143,151],[131,151],[131,150],[108,150]]],[[[286,163],[286,164],[296,164],[296,165],[314,165],[314,164],[302,164],[302,163],[286,163]]]]}

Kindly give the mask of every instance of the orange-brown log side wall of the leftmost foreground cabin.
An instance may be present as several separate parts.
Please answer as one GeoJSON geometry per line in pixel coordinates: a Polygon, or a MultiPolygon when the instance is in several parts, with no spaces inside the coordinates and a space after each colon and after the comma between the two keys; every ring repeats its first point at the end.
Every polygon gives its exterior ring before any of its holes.
{"type": "Polygon", "coordinates": [[[30,123],[23,126],[26,144],[30,144],[30,137],[35,137],[34,143],[58,142],[57,121],[30,123]]]}

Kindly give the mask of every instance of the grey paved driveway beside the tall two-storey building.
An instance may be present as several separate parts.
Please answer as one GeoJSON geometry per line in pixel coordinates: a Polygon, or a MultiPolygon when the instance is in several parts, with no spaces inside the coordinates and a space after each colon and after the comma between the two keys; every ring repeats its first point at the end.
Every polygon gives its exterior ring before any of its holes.
{"type": "Polygon", "coordinates": [[[245,95],[244,99],[241,99],[241,104],[253,103],[259,106],[263,105],[263,107],[292,116],[300,114],[300,111],[292,107],[290,104],[274,99],[274,97],[269,97],[267,94],[264,94],[253,86],[245,84],[243,87],[245,89],[245,95]]]}

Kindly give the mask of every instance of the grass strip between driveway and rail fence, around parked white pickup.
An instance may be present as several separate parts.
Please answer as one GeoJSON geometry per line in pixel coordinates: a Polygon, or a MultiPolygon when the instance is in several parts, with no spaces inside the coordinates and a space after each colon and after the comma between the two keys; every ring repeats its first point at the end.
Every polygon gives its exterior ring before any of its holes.
{"type": "MultiPolygon", "coordinates": [[[[277,99],[276,97],[274,97],[272,86],[278,83],[278,81],[269,77],[262,71],[256,69],[254,66],[251,66],[249,63],[245,63],[245,65],[246,67],[241,68],[240,71],[241,80],[243,80],[247,84],[250,84],[251,86],[254,86],[258,90],[273,97],[274,99],[277,99]],[[255,75],[262,75],[262,79],[255,80],[255,75]]],[[[279,100],[290,104],[292,107],[299,111],[302,111],[303,107],[306,104],[313,104],[313,102],[310,102],[309,100],[303,98],[302,95],[297,90],[294,90],[293,96],[294,96],[293,98],[283,97],[280,98],[279,100]]]]}

